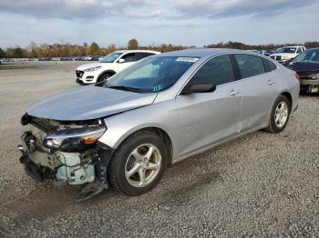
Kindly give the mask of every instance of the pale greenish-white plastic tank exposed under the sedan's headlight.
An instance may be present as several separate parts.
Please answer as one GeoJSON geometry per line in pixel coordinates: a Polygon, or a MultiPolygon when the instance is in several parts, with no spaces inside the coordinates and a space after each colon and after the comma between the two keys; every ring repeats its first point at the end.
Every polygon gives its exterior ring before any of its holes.
{"type": "Polygon", "coordinates": [[[57,169],[57,181],[67,181],[73,185],[94,181],[94,165],[80,164],[80,154],[60,152],[58,155],[63,165],[57,169]]]}

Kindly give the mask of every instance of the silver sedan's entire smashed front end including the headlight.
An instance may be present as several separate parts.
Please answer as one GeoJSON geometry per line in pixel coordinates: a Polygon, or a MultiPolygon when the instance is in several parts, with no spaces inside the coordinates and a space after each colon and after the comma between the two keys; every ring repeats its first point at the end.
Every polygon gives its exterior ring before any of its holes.
{"type": "Polygon", "coordinates": [[[63,122],[25,114],[21,124],[30,126],[18,146],[26,174],[38,182],[52,180],[58,187],[96,180],[108,187],[112,149],[98,142],[107,130],[103,120],[63,122]]]}

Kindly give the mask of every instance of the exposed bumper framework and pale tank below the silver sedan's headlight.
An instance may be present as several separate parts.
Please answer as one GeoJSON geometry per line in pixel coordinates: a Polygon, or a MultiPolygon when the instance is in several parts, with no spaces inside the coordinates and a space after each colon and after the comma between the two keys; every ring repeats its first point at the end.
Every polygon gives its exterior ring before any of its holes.
{"type": "Polygon", "coordinates": [[[20,163],[25,165],[26,174],[37,182],[82,184],[95,180],[97,151],[92,149],[83,154],[52,151],[43,147],[40,138],[30,131],[22,135],[22,142],[23,145],[18,145],[22,153],[20,163]]]}

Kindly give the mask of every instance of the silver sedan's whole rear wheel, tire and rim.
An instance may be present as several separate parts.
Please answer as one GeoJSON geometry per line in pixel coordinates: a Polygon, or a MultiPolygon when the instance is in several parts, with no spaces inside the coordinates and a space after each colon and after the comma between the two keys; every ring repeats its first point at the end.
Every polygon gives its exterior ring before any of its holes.
{"type": "Polygon", "coordinates": [[[264,129],[268,133],[280,133],[286,127],[291,113],[291,104],[287,97],[280,95],[273,104],[272,114],[268,126],[264,129]]]}

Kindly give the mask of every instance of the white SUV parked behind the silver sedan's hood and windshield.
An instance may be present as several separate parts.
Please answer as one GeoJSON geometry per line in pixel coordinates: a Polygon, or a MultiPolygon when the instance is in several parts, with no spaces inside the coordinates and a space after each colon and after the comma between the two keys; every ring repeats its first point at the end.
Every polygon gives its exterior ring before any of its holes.
{"type": "Polygon", "coordinates": [[[83,64],[77,67],[78,84],[95,84],[108,79],[142,58],[160,52],[149,50],[121,50],[108,54],[98,63],[83,64]]]}

